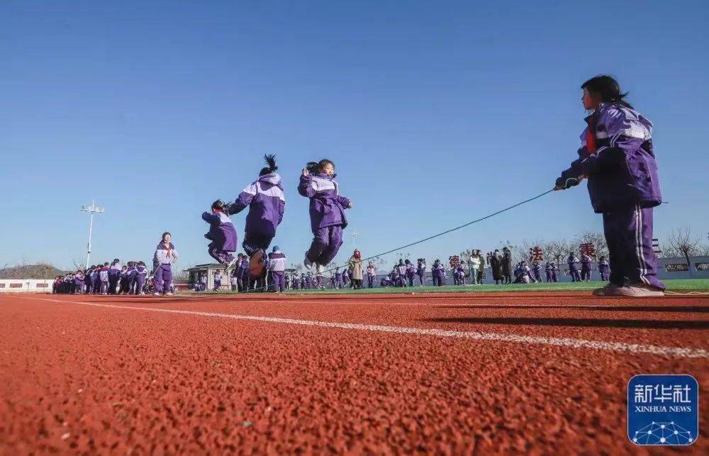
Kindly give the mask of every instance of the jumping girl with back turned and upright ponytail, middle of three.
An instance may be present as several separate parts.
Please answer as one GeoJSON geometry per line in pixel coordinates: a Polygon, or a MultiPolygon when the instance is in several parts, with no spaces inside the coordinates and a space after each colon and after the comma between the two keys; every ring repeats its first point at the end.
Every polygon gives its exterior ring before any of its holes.
{"type": "Polygon", "coordinates": [[[256,182],[243,189],[236,201],[225,210],[230,215],[249,207],[242,247],[250,257],[249,270],[254,276],[260,276],[263,272],[265,252],[276,237],[276,228],[283,221],[286,210],[281,176],[276,172],[276,156],[264,155],[264,159],[268,166],[261,169],[256,182]]]}

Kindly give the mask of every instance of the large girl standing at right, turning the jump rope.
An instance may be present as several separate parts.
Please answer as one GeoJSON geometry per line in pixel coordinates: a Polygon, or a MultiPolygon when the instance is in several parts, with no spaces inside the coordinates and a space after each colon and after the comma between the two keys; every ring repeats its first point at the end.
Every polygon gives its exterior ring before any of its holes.
{"type": "Polygon", "coordinates": [[[662,296],[657,255],[652,248],[652,208],[662,196],[652,147],[652,122],[625,101],[627,93],[610,76],[581,85],[586,117],[579,159],[562,172],[554,190],[588,177],[588,194],[610,253],[610,283],[599,296],[662,296]],[[627,284],[625,281],[627,280],[627,284]]]}

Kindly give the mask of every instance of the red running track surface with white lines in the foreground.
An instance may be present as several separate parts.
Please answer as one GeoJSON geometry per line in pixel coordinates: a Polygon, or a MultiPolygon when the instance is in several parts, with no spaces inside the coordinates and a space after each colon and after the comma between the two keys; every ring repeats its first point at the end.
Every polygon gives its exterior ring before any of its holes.
{"type": "Polygon", "coordinates": [[[0,296],[0,454],[645,454],[627,381],[707,391],[708,311],[575,293],[0,296]]]}

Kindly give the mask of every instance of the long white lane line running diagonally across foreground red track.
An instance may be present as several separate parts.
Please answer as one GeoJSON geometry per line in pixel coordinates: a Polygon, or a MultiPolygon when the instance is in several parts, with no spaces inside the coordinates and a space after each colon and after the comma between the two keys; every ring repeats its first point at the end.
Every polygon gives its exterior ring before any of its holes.
{"type": "Polygon", "coordinates": [[[533,335],[516,335],[505,333],[482,333],[479,331],[454,331],[443,329],[427,329],[427,328],[406,328],[405,326],[380,326],[380,325],[365,325],[361,323],[337,323],[332,321],[314,321],[314,320],[297,320],[294,318],[279,318],[253,315],[236,315],[233,313],[217,313],[217,312],[200,312],[200,311],[182,311],[174,308],[155,308],[155,307],[134,307],[134,306],[112,306],[110,304],[94,304],[90,302],[78,301],[62,301],[60,299],[40,299],[30,298],[28,296],[18,296],[23,299],[36,299],[37,301],[51,301],[63,304],[77,304],[80,306],[105,307],[105,308],[121,308],[130,311],[146,311],[160,313],[174,313],[179,315],[205,316],[215,318],[231,318],[233,320],[249,320],[263,321],[267,323],[283,323],[288,325],[300,326],[320,326],[322,328],[340,328],[350,330],[366,330],[379,333],[400,333],[413,335],[434,335],[442,338],[457,338],[469,340],[496,340],[500,342],[537,344],[537,345],[554,345],[557,347],[569,348],[593,348],[596,350],[608,350],[613,352],[629,352],[629,353],[650,353],[652,355],[663,355],[667,357],[681,358],[709,358],[709,352],[701,348],[685,348],[685,347],[659,347],[657,345],[642,345],[634,343],[622,342],[604,342],[602,340],[584,340],[573,338],[547,338],[533,335]]]}

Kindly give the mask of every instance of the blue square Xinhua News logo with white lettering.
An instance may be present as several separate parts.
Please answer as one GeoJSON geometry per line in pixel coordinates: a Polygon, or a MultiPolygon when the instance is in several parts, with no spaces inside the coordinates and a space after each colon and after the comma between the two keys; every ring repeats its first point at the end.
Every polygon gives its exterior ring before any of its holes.
{"type": "Polygon", "coordinates": [[[699,384],[691,375],[636,375],[627,384],[627,437],[635,445],[691,445],[699,384]]]}

